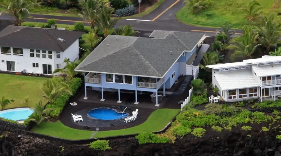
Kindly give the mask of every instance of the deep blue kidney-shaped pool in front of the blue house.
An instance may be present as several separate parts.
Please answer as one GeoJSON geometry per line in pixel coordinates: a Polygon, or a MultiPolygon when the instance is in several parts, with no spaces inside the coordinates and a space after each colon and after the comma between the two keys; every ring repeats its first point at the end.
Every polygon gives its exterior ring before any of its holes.
{"type": "Polygon", "coordinates": [[[89,112],[89,115],[92,118],[101,119],[101,120],[116,120],[116,119],[121,119],[121,118],[125,118],[128,116],[126,113],[123,113],[123,114],[117,113],[115,110],[106,109],[106,108],[91,110],[89,112]]]}

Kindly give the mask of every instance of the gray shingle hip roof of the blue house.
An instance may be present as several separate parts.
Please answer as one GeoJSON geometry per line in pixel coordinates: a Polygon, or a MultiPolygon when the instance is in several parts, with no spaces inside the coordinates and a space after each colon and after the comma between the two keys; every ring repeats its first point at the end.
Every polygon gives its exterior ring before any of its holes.
{"type": "Polygon", "coordinates": [[[159,30],[150,35],[153,38],[109,35],[76,70],[163,77],[183,51],[191,51],[203,36],[159,30]]]}

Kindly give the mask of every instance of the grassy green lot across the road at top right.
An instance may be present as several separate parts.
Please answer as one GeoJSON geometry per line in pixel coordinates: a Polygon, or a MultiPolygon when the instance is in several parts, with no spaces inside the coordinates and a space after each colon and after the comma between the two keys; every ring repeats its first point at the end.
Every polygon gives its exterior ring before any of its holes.
{"type": "MultiPolygon", "coordinates": [[[[201,14],[192,14],[188,8],[184,7],[176,13],[178,20],[191,25],[219,27],[225,22],[230,22],[233,27],[239,28],[243,25],[257,25],[259,19],[254,22],[248,22],[246,14],[240,10],[241,7],[249,5],[251,0],[213,0],[214,5],[201,14]],[[211,16],[207,16],[211,14],[211,16]]],[[[262,7],[264,15],[273,13],[277,15],[281,12],[281,1],[276,0],[257,0],[262,7]]],[[[281,17],[276,16],[276,21],[280,21],[281,17]]]]}

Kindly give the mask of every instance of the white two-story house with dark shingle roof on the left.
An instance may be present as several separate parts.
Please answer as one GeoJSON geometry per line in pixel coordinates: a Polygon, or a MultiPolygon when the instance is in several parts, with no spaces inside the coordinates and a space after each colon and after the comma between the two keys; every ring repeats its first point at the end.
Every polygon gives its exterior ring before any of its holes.
{"type": "Polygon", "coordinates": [[[7,26],[0,32],[0,71],[52,75],[79,59],[79,37],[84,32],[7,26]]]}

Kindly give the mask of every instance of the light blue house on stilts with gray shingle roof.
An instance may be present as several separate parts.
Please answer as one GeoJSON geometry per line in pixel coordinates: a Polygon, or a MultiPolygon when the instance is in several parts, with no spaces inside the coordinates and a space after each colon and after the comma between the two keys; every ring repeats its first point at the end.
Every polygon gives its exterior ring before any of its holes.
{"type": "MultiPolygon", "coordinates": [[[[200,40],[205,34],[155,30],[149,37],[109,35],[75,69],[85,72],[86,87],[103,92],[133,90],[155,93],[171,88],[180,75],[187,75],[193,68],[200,40]],[[190,60],[191,59],[191,60],[190,60]]],[[[198,69],[198,68],[197,68],[198,69]]],[[[191,72],[192,74],[192,72],[191,72]]],[[[156,98],[156,105],[158,98],[156,98]]]]}

